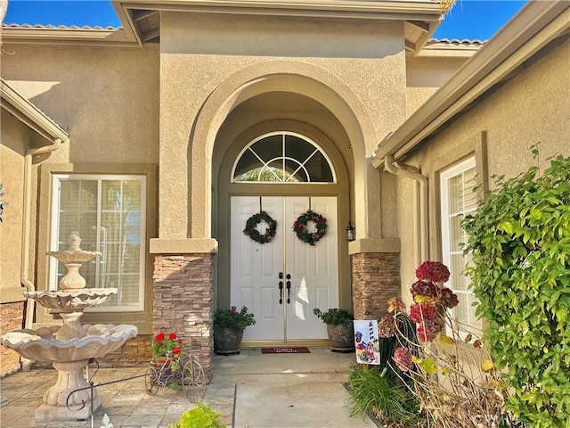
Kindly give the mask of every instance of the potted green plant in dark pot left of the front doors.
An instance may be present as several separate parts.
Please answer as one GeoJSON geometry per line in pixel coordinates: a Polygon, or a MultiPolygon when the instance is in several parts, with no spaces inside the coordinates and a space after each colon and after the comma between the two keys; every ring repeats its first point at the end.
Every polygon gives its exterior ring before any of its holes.
{"type": "Polygon", "coordinates": [[[256,324],[256,318],[247,307],[239,311],[235,306],[230,309],[218,308],[214,312],[214,347],[219,354],[239,354],[243,331],[248,325],[256,324]]]}

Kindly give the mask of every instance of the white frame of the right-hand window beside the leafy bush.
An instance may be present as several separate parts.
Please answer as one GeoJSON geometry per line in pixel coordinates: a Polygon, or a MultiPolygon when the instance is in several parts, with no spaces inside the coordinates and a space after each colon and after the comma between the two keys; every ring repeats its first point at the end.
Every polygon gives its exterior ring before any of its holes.
{"type": "MultiPolygon", "coordinates": [[[[449,182],[452,178],[459,176],[460,174],[463,174],[464,172],[468,171],[469,169],[475,169],[476,168],[476,160],[475,160],[475,156],[470,157],[464,161],[460,161],[459,163],[453,165],[451,168],[448,169],[444,169],[444,171],[442,171],[440,173],[440,195],[441,195],[441,199],[440,199],[440,208],[441,208],[441,230],[442,230],[442,256],[443,256],[443,262],[444,265],[447,266],[450,270],[450,280],[449,283],[446,284],[450,289],[452,289],[453,292],[455,292],[458,295],[459,300],[461,300],[461,296],[463,295],[468,295],[470,294],[471,297],[475,297],[474,293],[472,290],[458,290],[457,286],[453,283],[453,274],[454,272],[452,271],[453,266],[452,266],[452,252],[454,254],[458,253],[458,252],[463,252],[462,250],[460,251],[451,251],[451,232],[450,232],[450,227],[449,227],[449,218],[452,215],[460,215],[462,217],[465,217],[466,215],[468,215],[469,213],[475,212],[476,211],[476,206],[472,207],[468,210],[460,210],[458,212],[455,213],[450,213],[450,190],[449,190],[449,182]]],[[[465,185],[465,181],[462,181],[462,184],[465,185]]],[[[465,192],[463,192],[463,194],[465,194],[465,192]]],[[[463,205],[464,206],[464,205],[463,205]]],[[[463,267],[465,268],[465,266],[463,267]]],[[[468,277],[465,275],[465,273],[462,273],[462,275],[466,278],[466,282],[467,284],[470,284],[470,280],[468,279],[468,277]]],[[[452,316],[452,319],[454,319],[454,315],[455,315],[455,309],[451,309],[450,310],[450,315],[452,316]]],[[[478,326],[476,325],[471,325],[470,324],[470,318],[468,317],[467,314],[467,319],[468,319],[468,325],[457,325],[457,328],[460,332],[461,336],[465,336],[467,333],[469,333],[468,330],[472,331],[472,333],[476,333],[477,335],[480,335],[481,333],[483,333],[482,331],[480,331],[480,329],[478,328],[478,326]]]]}

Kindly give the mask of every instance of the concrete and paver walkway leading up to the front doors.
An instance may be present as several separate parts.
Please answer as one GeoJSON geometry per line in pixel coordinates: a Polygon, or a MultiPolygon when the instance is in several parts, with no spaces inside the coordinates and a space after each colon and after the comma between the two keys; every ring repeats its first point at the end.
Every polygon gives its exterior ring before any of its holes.
{"type": "MultiPolygon", "coordinates": [[[[266,354],[259,349],[240,355],[215,356],[214,377],[204,400],[221,413],[228,428],[375,428],[367,416],[350,417],[346,382],[354,354],[311,348],[310,354],[266,354]]],[[[100,369],[93,382],[104,383],[144,374],[147,366],[100,369]]],[[[53,369],[20,372],[2,379],[5,399],[0,413],[3,428],[91,427],[88,421],[36,423],[34,411],[57,378],[53,369]]],[[[98,387],[102,408],[94,415],[95,428],[107,414],[113,428],[162,428],[175,423],[194,405],[182,391],[159,390],[148,395],[144,379],[98,387]]]]}

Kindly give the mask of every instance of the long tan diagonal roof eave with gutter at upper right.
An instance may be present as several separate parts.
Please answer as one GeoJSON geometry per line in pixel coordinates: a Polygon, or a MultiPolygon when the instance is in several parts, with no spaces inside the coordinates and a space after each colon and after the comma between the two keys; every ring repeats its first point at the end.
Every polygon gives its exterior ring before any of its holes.
{"type": "Polygon", "coordinates": [[[397,160],[570,27],[570,3],[529,2],[372,153],[397,160]]]}

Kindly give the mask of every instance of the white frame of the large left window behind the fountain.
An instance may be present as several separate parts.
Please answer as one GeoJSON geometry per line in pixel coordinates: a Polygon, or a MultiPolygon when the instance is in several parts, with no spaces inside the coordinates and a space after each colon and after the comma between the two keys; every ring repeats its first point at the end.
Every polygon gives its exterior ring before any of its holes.
{"type": "MultiPolygon", "coordinates": [[[[52,221],[51,221],[51,235],[50,235],[50,251],[57,251],[59,242],[60,230],[60,202],[61,202],[61,187],[60,182],[64,180],[93,180],[98,183],[98,193],[102,193],[103,180],[138,180],[141,182],[141,221],[140,221],[140,260],[139,260],[139,296],[137,305],[129,306],[98,306],[94,308],[87,308],[85,312],[139,312],[144,310],[144,288],[146,283],[146,177],[142,175],[117,175],[117,174],[53,174],[52,176],[52,221]]],[[[97,243],[99,243],[99,251],[101,251],[101,199],[97,202],[97,243]]],[[[69,233],[72,232],[71,230],[69,233]]],[[[81,231],[78,231],[81,234],[81,231]]],[[[64,248],[62,250],[67,250],[64,248]]],[[[58,263],[60,261],[54,257],[49,258],[49,272],[48,272],[48,286],[49,290],[58,290],[58,263]]],[[[97,273],[101,268],[101,258],[97,257],[98,267],[97,273]]],[[[96,275],[98,276],[98,275],[96,275]]],[[[85,288],[88,288],[85,285],[85,288]]],[[[104,287],[109,288],[109,287],[104,287]]],[[[116,287],[115,287],[116,288],[116,287]]]]}

